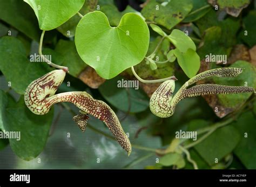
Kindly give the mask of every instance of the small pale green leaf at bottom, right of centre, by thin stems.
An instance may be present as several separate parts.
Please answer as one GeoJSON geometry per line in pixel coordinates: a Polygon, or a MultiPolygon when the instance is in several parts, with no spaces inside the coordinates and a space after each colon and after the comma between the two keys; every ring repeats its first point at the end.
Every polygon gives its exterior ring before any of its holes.
{"type": "Polygon", "coordinates": [[[184,167],[185,165],[182,160],[184,161],[181,154],[169,153],[159,159],[159,164],[163,166],[179,165],[179,167],[184,167]]]}

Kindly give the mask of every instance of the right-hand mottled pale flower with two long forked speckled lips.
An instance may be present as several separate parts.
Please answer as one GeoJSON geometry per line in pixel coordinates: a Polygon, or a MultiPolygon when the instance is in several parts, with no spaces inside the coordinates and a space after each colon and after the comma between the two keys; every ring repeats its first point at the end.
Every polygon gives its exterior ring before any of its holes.
{"type": "Polygon", "coordinates": [[[179,91],[173,96],[175,88],[175,80],[167,80],[163,82],[150,98],[150,110],[158,117],[170,117],[174,113],[174,109],[179,101],[184,98],[191,98],[199,95],[207,94],[237,94],[255,92],[254,88],[248,86],[224,86],[214,84],[196,85],[190,88],[188,86],[195,82],[208,77],[237,77],[242,73],[242,68],[225,67],[208,70],[194,76],[188,80],[179,91]]]}

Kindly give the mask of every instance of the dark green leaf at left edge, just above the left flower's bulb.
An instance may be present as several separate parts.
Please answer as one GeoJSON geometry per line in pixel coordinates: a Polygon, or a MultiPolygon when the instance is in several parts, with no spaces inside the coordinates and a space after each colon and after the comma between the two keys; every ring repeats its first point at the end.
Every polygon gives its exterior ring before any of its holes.
{"type": "Polygon", "coordinates": [[[33,80],[51,71],[45,62],[30,62],[23,43],[14,37],[0,39],[0,68],[15,92],[24,94],[33,80]]]}

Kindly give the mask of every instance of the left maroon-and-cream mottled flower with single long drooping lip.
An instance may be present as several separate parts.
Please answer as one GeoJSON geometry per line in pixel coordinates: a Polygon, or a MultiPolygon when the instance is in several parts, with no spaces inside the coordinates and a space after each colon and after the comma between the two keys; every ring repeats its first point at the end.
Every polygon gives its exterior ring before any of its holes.
{"type": "Polygon", "coordinates": [[[118,117],[109,105],[103,101],[93,99],[87,92],[65,92],[55,95],[64,78],[65,71],[55,70],[32,81],[26,88],[24,95],[26,106],[31,112],[37,115],[44,115],[49,112],[51,106],[55,103],[71,102],[82,110],[82,114],[84,114],[74,118],[82,131],[85,130],[87,120],[89,119],[89,117],[86,117],[86,114],[97,117],[106,124],[120,146],[130,155],[130,140],[125,134],[118,117]]]}

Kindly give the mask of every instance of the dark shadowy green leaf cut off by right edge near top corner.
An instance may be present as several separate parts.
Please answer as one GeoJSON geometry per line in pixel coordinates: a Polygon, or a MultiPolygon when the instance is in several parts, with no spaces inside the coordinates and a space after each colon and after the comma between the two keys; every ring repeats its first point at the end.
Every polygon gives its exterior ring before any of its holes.
{"type": "Polygon", "coordinates": [[[248,15],[246,15],[242,21],[244,22],[245,29],[243,29],[240,33],[242,40],[250,47],[253,47],[256,44],[256,38],[254,37],[254,33],[256,32],[256,11],[250,11],[248,15]]]}

